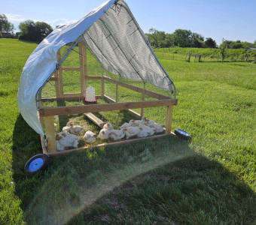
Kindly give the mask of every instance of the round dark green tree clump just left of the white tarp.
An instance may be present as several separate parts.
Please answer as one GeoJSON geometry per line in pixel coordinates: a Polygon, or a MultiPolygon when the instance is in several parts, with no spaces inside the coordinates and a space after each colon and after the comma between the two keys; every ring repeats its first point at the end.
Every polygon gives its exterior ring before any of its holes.
{"type": "Polygon", "coordinates": [[[20,40],[34,40],[34,41],[41,41],[51,31],[53,28],[44,22],[34,22],[32,20],[26,20],[23,23],[20,23],[20,40]]]}

